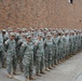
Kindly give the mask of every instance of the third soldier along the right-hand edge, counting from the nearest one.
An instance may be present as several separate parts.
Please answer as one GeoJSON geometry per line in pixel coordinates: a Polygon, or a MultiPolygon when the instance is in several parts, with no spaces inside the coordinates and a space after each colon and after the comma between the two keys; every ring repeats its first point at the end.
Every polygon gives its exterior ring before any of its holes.
{"type": "Polygon", "coordinates": [[[52,69],[52,55],[53,55],[53,40],[51,32],[46,33],[46,39],[44,40],[44,50],[45,50],[45,70],[50,71],[52,69]]]}

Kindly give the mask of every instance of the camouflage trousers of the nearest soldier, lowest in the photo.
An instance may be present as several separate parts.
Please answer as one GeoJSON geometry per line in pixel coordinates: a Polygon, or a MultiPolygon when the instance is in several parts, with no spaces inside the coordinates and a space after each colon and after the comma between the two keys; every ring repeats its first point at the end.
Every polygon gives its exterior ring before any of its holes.
{"type": "Polygon", "coordinates": [[[33,71],[33,58],[31,58],[31,59],[24,58],[23,64],[24,64],[24,76],[25,76],[25,78],[31,77],[32,71],[33,71]]]}

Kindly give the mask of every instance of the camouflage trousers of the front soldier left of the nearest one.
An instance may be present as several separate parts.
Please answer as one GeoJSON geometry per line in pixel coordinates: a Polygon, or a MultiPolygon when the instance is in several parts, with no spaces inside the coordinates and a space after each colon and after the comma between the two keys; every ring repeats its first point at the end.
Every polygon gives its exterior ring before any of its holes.
{"type": "Polygon", "coordinates": [[[6,55],[6,70],[8,73],[11,73],[12,71],[12,66],[13,66],[13,70],[16,70],[16,55],[6,55]]]}

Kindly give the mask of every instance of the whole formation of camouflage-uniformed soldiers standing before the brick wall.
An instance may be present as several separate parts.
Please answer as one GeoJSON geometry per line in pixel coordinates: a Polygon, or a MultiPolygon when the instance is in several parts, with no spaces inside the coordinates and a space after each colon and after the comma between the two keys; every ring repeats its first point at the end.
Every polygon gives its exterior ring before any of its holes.
{"type": "Polygon", "coordinates": [[[0,32],[0,59],[9,78],[13,78],[12,73],[17,75],[19,64],[26,81],[33,80],[35,76],[45,75],[81,50],[82,30],[8,28],[0,32]]]}

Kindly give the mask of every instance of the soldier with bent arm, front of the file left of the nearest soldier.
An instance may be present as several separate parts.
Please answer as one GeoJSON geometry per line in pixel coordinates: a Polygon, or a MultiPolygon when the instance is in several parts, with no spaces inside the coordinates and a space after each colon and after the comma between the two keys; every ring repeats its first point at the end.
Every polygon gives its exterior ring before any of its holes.
{"type": "Polygon", "coordinates": [[[8,39],[4,44],[6,45],[6,70],[8,77],[13,78],[12,65],[13,65],[13,75],[16,75],[16,45],[15,45],[15,33],[10,33],[10,39],[8,39]]]}

